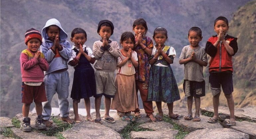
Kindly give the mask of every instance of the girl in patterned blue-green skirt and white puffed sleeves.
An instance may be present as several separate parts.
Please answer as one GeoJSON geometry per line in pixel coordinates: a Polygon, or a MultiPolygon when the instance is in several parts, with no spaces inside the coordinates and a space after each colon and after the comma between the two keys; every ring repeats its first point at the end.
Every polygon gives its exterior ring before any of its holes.
{"type": "Polygon", "coordinates": [[[176,57],[176,52],[173,47],[165,45],[167,38],[168,35],[165,28],[158,27],[154,30],[153,39],[156,45],[149,58],[149,63],[152,66],[150,67],[148,100],[156,102],[159,113],[156,116],[157,121],[163,120],[162,102],[167,103],[169,117],[174,119],[181,117],[173,113],[173,102],[181,98],[170,66],[176,57]]]}

